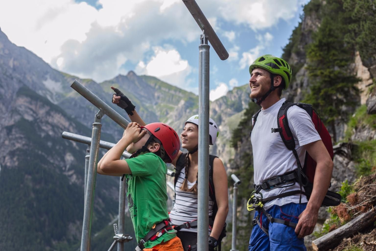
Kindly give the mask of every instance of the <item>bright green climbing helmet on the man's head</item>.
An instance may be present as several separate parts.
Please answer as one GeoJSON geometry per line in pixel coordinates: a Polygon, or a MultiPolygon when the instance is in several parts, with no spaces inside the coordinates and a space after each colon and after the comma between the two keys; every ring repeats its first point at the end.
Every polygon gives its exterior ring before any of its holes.
{"type": "Polygon", "coordinates": [[[291,76],[293,76],[293,72],[291,71],[290,65],[288,65],[288,63],[282,58],[278,58],[269,54],[263,55],[257,58],[255,62],[250,65],[249,73],[252,74],[252,70],[257,67],[282,76],[282,78],[284,78],[285,80],[284,90],[288,87],[288,84],[290,84],[290,79],[291,76]]]}

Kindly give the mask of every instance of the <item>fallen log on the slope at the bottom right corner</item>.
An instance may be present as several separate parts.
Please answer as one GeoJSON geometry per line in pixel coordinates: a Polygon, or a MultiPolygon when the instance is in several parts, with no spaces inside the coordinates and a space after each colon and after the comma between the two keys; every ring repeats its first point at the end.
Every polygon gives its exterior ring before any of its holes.
{"type": "Polygon", "coordinates": [[[312,241],[312,248],[315,251],[326,251],[338,246],[343,238],[351,237],[369,227],[376,221],[376,210],[372,208],[367,213],[361,214],[352,221],[324,236],[312,241]]]}

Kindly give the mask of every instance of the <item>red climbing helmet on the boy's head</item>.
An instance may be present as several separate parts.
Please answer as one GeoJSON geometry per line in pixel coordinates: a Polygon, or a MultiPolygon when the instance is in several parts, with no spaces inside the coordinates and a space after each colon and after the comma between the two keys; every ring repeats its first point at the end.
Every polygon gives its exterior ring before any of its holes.
{"type": "Polygon", "coordinates": [[[161,158],[166,163],[171,163],[180,149],[180,140],[175,130],[171,126],[160,122],[150,123],[146,126],[141,126],[141,128],[146,128],[149,134],[152,134],[154,138],[161,142],[161,158]],[[164,153],[167,154],[170,160],[163,158],[164,153]]]}

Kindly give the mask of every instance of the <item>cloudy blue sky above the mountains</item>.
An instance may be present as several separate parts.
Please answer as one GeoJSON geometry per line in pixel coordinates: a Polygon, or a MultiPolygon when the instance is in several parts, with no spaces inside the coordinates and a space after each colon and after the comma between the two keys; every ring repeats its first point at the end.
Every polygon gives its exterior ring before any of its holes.
{"type": "MultiPolygon", "coordinates": [[[[229,52],[222,61],[210,49],[215,100],[248,83],[258,56],[282,55],[309,0],[196,2],[229,52]]],[[[182,0],[0,0],[0,6],[9,40],[59,71],[100,83],[133,70],[199,92],[202,31],[182,0]]]]}

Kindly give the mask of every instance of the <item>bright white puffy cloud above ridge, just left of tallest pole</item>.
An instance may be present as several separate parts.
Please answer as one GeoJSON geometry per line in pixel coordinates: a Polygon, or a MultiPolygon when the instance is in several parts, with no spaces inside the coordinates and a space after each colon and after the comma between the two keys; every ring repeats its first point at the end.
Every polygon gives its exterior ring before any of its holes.
{"type": "Polygon", "coordinates": [[[136,67],[138,74],[156,76],[168,83],[186,89],[186,77],[191,73],[187,60],[183,60],[175,49],[153,47],[154,56],[147,64],[140,61],[136,67]]]}

